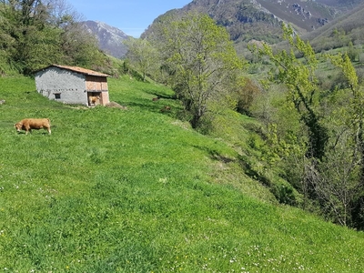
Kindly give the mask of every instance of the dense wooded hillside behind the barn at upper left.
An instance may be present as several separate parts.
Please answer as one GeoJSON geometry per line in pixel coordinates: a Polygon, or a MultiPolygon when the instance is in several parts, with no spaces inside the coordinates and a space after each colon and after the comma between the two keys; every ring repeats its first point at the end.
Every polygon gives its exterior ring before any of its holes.
{"type": "Polygon", "coordinates": [[[50,64],[106,67],[95,37],[64,1],[1,1],[0,75],[32,74],[50,64]]]}

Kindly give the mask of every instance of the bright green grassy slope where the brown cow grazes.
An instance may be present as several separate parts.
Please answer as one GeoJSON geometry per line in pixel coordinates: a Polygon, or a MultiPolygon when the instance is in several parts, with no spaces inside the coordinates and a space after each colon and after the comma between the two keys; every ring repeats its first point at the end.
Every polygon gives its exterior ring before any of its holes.
{"type": "Polygon", "coordinates": [[[127,110],[61,105],[32,79],[0,78],[2,270],[364,268],[363,233],[277,205],[241,173],[234,149],[172,117],[170,90],[128,78],[109,88],[127,110]],[[52,136],[16,134],[25,116],[50,117],[52,136]]]}

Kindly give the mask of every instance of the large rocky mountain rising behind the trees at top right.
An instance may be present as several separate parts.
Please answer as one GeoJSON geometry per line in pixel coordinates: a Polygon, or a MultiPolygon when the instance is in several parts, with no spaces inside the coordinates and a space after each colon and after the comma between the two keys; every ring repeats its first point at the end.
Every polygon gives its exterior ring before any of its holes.
{"type": "MultiPolygon", "coordinates": [[[[339,1],[296,1],[296,0],[255,0],[255,1],[192,1],[180,9],[168,11],[156,18],[142,35],[153,32],[154,25],[167,15],[181,15],[187,11],[198,11],[210,15],[217,25],[227,28],[235,42],[238,53],[246,54],[247,44],[252,40],[276,44],[281,41],[281,22],[294,25],[299,35],[309,34],[330,25],[336,18],[351,12],[363,4],[363,0],[339,1]]],[[[361,21],[358,21],[359,23],[361,21]]],[[[358,29],[359,29],[358,27],[358,29]]]]}

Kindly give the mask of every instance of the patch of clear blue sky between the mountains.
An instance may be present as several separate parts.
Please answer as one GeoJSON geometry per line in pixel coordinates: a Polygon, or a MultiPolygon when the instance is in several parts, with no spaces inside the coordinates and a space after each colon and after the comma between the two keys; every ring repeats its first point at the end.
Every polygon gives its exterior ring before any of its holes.
{"type": "Polygon", "coordinates": [[[158,15],[192,0],[66,0],[86,20],[101,21],[138,38],[158,15]]]}

